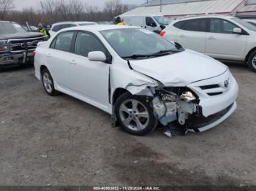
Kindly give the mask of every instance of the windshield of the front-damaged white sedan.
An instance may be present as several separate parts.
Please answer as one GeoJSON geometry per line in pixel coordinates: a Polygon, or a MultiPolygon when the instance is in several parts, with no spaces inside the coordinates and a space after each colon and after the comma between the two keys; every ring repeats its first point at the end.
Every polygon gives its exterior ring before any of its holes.
{"type": "Polygon", "coordinates": [[[101,31],[121,58],[143,58],[180,52],[175,44],[142,28],[121,28],[101,31]]]}

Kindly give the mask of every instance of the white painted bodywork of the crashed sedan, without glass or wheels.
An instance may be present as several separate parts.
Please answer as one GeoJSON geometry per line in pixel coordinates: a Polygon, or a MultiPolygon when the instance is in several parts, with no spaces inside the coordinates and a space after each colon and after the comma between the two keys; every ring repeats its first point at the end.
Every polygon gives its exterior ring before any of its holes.
{"type": "MultiPolygon", "coordinates": [[[[148,87],[189,87],[200,99],[202,114],[211,114],[231,106],[219,120],[206,125],[199,131],[213,128],[225,120],[236,109],[238,84],[227,66],[213,58],[191,50],[157,58],[127,61],[121,58],[100,31],[129,29],[132,26],[86,26],[68,28],[60,31],[89,31],[96,35],[112,56],[111,64],[102,61],[102,52],[89,52],[89,58],[70,52],[54,50],[50,47],[53,38],[37,47],[35,55],[35,75],[41,79],[41,67],[46,67],[53,77],[56,90],[67,93],[86,103],[113,112],[113,95],[118,88],[128,90],[132,95],[150,95],[148,87]],[[225,82],[230,84],[225,87],[225,82]],[[218,88],[202,90],[200,86],[216,85],[218,88]],[[208,95],[217,93],[221,95],[208,95]]],[[[56,36],[58,35],[56,34],[56,36]]],[[[157,35],[157,34],[155,34],[157,35]]]]}

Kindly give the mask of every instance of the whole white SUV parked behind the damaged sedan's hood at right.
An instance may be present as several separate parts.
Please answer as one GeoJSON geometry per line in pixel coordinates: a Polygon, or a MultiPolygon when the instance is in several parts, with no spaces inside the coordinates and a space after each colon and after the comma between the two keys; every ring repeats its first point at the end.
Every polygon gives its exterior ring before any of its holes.
{"type": "Polygon", "coordinates": [[[247,63],[256,72],[256,26],[237,17],[184,17],[173,20],[160,35],[221,61],[247,63]]]}

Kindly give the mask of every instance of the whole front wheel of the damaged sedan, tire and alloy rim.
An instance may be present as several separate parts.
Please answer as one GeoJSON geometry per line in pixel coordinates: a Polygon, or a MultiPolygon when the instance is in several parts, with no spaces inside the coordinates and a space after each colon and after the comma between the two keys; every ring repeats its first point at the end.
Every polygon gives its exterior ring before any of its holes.
{"type": "Polygon", "coordinates": [[[124,93],[116,101],[116,116],[121,128],[135,136],[144,136],[157,126],[151,106],[130,93],[124,93]]]}

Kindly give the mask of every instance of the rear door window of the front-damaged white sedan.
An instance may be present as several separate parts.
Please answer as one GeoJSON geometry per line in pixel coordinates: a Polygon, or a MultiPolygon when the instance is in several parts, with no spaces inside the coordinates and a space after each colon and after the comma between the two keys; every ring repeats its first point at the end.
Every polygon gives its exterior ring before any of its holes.
{"type": "Polygon", "coordinates": [[[70,52],[73,36],[74,32],[65,32],[59,34],[56,39],[54,39],[54,41],[56,40],[54,48],[56,50],[70,52]]]}

